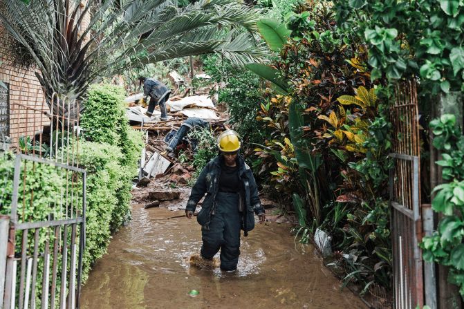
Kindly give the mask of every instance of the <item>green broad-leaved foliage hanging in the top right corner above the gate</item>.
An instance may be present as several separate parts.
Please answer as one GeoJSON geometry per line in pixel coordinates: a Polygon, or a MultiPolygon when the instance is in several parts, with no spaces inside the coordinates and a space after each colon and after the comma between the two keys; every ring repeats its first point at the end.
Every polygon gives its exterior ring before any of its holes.
{"type": "Polygon", "coordinates": [[[335,10],[369,44],[372,79],[414,74],[434,93],[463,90],[462,1],[341,0],[335,10]]]}

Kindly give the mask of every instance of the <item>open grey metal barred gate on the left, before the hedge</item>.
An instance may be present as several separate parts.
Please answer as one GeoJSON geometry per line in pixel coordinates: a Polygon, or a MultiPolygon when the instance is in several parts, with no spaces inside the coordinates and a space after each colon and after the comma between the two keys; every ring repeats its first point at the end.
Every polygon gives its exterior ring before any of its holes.
{"type": "MultiPolygon", "coordinates": [[[[72,106],[66,97],[59,102],[56,109],[72,106]]],[[[79,120],[59,116],[59,110],[49,113],[48,106],[12,109],[26,118],[29,134],[17,140],[8,184],[12,203],[3,308],[79,308],[86,218],[86,171],[79,167],[75,134],[79,120]],[[31,128],[38,133],[30,135],[31,128]]]]}

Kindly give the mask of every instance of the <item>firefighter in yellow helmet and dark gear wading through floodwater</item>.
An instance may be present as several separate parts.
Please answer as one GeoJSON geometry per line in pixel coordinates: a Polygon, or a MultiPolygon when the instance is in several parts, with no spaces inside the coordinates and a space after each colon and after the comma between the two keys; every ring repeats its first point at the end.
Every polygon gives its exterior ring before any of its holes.
{"type": "Polygon", "coordinates": [[[259,223],[266,220],[266,215],[252,171],[239,155],[239,135],[233,130],[224,131],[218,147],[219,156],[208,162],[192,188],[185,216],[194,216],[196,204],[206,194],[196,218],[203,241],[198,259],[213,263],[214,254],[221,250],[221,270],[234,271],[240,255],[240,230],[248,236],[254,228],[254,213],[259,223]]]}

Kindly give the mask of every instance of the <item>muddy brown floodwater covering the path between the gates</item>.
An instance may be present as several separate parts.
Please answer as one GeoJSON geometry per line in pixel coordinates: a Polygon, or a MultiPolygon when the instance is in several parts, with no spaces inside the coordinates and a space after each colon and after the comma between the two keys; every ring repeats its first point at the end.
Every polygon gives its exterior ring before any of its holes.
{"type": "Polygon", "coordinates": [[[187,263],[199,252],[196,218],[133,205],[108,254],[82,290],[81,308],[366,308],[324,268],[311,245],[295,244],[290,225],[270,223],[241,237],[236,274],[187,263]],[[191,296],[189,292],[198,291],[191,296]]]}

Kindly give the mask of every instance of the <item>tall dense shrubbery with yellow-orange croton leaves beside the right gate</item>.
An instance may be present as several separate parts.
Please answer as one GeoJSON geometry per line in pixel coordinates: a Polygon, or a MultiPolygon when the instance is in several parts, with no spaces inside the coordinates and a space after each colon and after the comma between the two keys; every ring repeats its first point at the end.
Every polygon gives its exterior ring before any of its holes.
{"type": "Polygon", "coordinates": [[[371,83],[364,44],[337,26],[330,6],[310,4],[286,21],[292,32],[277,61],[252,67],[282,94],[269,90],[257,118],[269,133],[256,149],[261,172],[291,196],[303,229],[331,234],[346,281],[362,292],[390,288],[386,91],[371,83]]]}

